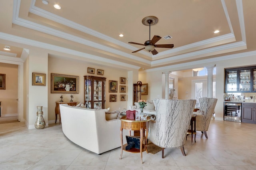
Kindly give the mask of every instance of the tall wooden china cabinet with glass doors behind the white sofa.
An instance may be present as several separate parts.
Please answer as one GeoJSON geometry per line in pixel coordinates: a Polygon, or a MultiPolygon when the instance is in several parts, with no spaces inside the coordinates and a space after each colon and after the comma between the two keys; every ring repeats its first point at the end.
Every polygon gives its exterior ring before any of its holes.
{"type": "Polygon", "coordinates": [[[88,109],[105,109],[106,78],[84,76],[84,105],[88,109]]]}

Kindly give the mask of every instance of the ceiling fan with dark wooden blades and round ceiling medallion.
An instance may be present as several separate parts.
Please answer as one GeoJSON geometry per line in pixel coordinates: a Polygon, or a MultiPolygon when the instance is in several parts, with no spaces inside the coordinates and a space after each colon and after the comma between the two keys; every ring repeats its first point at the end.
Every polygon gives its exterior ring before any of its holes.
{"type": "Polygon", "coordinates": [[[174,47],[173,44],[155,44],[156,42],[158,42],[161,39],[160,36],[154,36],[152,38],[152,40],[150,40],[150,26],[155,25],[157,22],[158,22],[158,18],[155,17],[155,16],[147,16],[147,17],[142,19],[142,24],[144,24],[145,26],[149,26],[149,40],[147,40],[144,44],[136,43],[136,42],[128,42],[128,43],[132,43],[132,44],[146,46],[144,48],[133,51],[132,53],[136,53],[136,52],[138,52],[142,49],[146,49],[146,51],[151,51],[151,53],[153,55],[156,55],[156,54],[158,54],[158,52],[156,51],[155,47],[160,47],[160,48],[172,48],[172,47],[174,47]]]}

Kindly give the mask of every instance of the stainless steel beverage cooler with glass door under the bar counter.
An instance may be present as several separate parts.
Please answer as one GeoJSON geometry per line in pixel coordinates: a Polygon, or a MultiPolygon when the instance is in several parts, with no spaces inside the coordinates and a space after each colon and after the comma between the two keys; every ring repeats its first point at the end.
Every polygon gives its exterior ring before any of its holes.
{"type": "Polygon", "coordinates": [[[241,122],[242,103],[224,102],[224,121],[241,122]]]}

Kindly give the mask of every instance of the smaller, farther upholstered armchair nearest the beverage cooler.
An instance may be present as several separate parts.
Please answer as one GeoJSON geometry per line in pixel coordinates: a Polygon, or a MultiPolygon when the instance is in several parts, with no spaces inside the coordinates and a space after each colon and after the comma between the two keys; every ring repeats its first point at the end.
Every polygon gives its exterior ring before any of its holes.
{"type": "Polygon", "coordinates": [[[196,112],[196,131],[201,131],[204,136],[208,138],[206,131],[210,125],[212,114],[216,106],[217,100],[215,98],[202,97],[199,98],[200,110],[196,112]]]}

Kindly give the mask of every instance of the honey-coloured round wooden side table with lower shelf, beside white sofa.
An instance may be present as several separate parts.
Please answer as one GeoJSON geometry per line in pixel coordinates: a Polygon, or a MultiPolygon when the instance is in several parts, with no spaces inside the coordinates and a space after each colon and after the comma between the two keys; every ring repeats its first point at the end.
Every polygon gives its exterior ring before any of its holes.
{"type": "Polygon", "coordinates": [[[144,152],[146,150],[146,152],[148,153],[147,144],[148,144],[148,128],[149,128],[150,117],[147,117],[147,120],[144,120],[144,121],[133,121],[133,120],[127,120],[126,116],[123,116],[120,118],[120,120],[121,120],[121,127],[120,127],[121,155],[120,155],[120,159],[122,159],[123,150],[125,150],[127,152],[132,152],[132,153],[140,153],[141,163],[143,164],[142,152],[144,152]],[[130,130],[140,130],[140,149],[136,149],[136,148],[131,148],[130,150],[125,149],[127,144],[123,144],[123,129],[129,130],[129,136],[131,136],[130,130]],[[144,130],[146,131],[145,144],[143,144],[144,130]]]}

